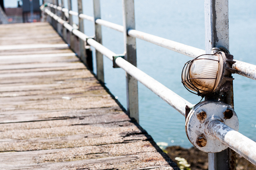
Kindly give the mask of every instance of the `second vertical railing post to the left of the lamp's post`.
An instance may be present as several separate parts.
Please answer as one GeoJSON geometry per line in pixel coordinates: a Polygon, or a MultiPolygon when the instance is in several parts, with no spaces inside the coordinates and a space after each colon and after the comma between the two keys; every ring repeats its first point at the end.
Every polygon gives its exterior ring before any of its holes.
{"type": "MultiPolygon", "coordinates": [[[[101,18],[100,13],[100,0],[93,0],[93,16],[94,21],[101,18]]],[[[102,44],[101,25],[94,22],[95,40],[102,44]]],[[[96,50],[96,66],[97,66],[97,79],[104,83],[104,64],[103,55],[96,50]]]]}

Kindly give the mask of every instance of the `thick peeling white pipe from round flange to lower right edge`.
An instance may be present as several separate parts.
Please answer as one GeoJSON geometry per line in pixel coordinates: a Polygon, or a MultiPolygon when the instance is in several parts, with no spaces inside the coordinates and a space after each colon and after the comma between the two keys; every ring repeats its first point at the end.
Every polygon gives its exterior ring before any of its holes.
{"type": "Polygon", "coordinates": [[[254,141],[220,121],[210,122],[208,131],[211,136],[256,165],[256,143],[254,141]]]}

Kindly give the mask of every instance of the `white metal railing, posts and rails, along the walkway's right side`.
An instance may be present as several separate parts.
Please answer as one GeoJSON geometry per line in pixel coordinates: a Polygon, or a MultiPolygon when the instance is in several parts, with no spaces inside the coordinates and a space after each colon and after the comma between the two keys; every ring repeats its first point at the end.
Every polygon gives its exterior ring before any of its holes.
{"type": "MultiPolygon", "coordinates": [[[[215,3],[222,3],[223,0],[216,0],[215,3]]],[[[227,2],[227,1],[225,1],[227,2]]],[[[147,34],[141,31],[137,31],[135,29],[135,21],[134,21],[134,1],[133,0],[123,0],[123,20],[124,26],[120,26],[115,23],[111,23],[108,21],[104,21],[100,17],[100,0],[93,0],[93,9],[94,9],[94,17],[87,16],[82,13],[82,0],[78,0],[78,12],[72,11],[71,0],[68,0],[68,9],[63,8],[63,0],[62,7],[59,7],[55,4],[47,3],[50,9],[45,8],[43,11],[50,16],[49,21],[52,23],[53,27],[55,27],[60,34],[62,34],[63,38],[70,43],[70,47],[75,47],[75,41],[72,39],[74,36],[80,39],[80,58],[83,62],[86,63],[86,54],[85,51],[86,46],[91,46],[96,49],[96,64],[97,64],[97,78],[99,81],[104,82],[104,72],[103,72],[103,61],[102,55],[109,58],[113,61],[115,67],[120,67],[124,69],[127,73],[126,83],[127,83],[127,113],[130,117],[134,117],[136,121],[139,123],[139,109],[138,109],[138,97],[137,97],[137,81],[141,82],[149,88],[152,92],[154,92],[157,96],[163,99],[166,103],[168,103],[171,107],[175,108],[178,112],[180,112],[183,116],[186,116],[186,106],[193,107],[194,105],[186,101],[184,98],[180,97],[178,94],[171,91],[169,88],[165,87],[160,82],[157,82],[154,78],[150,77],[146,73],[142,72],[140,69],[136,67],[136,38],[142,39],[147,42],[154,43],[158,46],[171,49],[172,51],[184,54],[186,56],[195,58],[200,56],[201,54],[209,53],[210,49],[216,45],[223,45],[228,48],[228,39],[227,37],[223,38],[218,32],[214,32],[212,19],[215,19],[215,23],[218,24],[218,19],[211,18],[216,17],[219,14],[228,13],[228,7],[222,7],[222,11],[214,12],[213,1],[205,0],[205,29],[206,29],[206,51],[203,49],[187,46],[182,43],[174,42],[169,39],[157,37],[151,34],[147,34]],[[57,11],[58,12],[57,12],[57,11]],[[54,13],[55,12],[55,13],[54,13]],[[73,27],[72,15],[77,16],[79,18],[79,26],[78,29],[73,27]],[[83,19],[87,19],[88,21],[94,22],[95,24],[95,36],[90,37],[87,36],[83,32],[83,19]],[[57,24],[55,23],[57,22],[57,24]],[[101,41],[101,26],[109,27],[119,32],[123,32],[125,36],[125,52],[124,54],[116,54],[110,49],[102,46],[101,41]],[[58,27],[61,27],[59,29],[58,27]],[[67,35],[66,30],[69,32],[67,35]],[[214,39],[215,37],[218,37],[214,39]],[[69,36],[69,38],[68,38],[69,36]]],[[[224,19],[228,19],[227,18],[224,19]]],[[[226,29],[228,29],[228,26],[226,29]]],[[[256,79],[256,66],[253,64],[241,62],[235,60],[236,63],[233,64],[233,69],[235,69],[235,73],[240,74],[244,77],[248,77],[251,79],[256,79]]],[[[227,104],[233,106],[233,86],[227,93],[227,104]]],[[[243,136],[239,132],[234,129],[228,127],[223,122],[215,120],[208,124],[206,130],[209,133],[209,136],[212,138],[218,139],[220,142],[224,143],[226,146],[232,148],[235,152],[241,154],[244,158],[248,159],[250,162],[256,165],[256,143],[251,139],[243,136]]],[[[223,162],[218,162],[216,157],[221,156],[223,153],[209,153],[209,169],[218,169],[219,166],[222,166],[221,169],[235,169],[230,167],[235,167],[234,163],[228,158],[228,167],[223,166],[223,162]]],[[[225,153],[227,154],[227,152],[225,153]]],[[[231,157],[229,155],[229,157],[231,157]]]]}

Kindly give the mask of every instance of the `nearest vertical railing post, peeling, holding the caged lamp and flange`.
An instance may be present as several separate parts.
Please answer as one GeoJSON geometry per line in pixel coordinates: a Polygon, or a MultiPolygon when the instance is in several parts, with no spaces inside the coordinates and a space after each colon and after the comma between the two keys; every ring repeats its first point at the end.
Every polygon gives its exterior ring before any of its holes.
{"type": "MultiPolygon", "coordinates": [[[[213,47],[229,49],[228,0],[205,0],[205,51],[211,53],[213,47]]],[[[233,82],[227,92],[225,103],[234,107],[233,82]]],[[[235,169],[235,152],[228,148],[219,153],[209,153],[209,170],[235,169]]]]}

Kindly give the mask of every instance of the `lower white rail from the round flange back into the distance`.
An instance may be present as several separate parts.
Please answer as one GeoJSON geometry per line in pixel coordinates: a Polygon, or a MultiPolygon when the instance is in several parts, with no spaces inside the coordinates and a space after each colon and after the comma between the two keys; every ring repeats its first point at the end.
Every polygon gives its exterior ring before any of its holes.
{"type": "MultiPolygon", "coordinates": [[[[83,41],[86,41],[88,44],[90,44],[92,47],[97,49],[100,53],[104,54],[107,58],[109,58],[111,61],[113,60],[113,56],[116,56],[116,54],[110,49],[107,49],[106,47],[102,46],[102,44],[98,43],[92,38],[89,38],[86,36],[86,34],[83,34],[82,32],[78,31],[77,29],[73,29],[73,27],[68,24],[67,22],[63,21],[60,17],[58,17],[56,14],[53,14],[48,9],[45,10],[45,12],[53,17],[57,22],[63,24],[64,27],[68,29],[68,31],[75,34],[77,37],[83,39],[83,41]]],[[[139,68],[133,66],[131,63],[127,62],[125,59],[119,57],[116,59],[116,64],[124,69],[127,73],[129,73],[132,77],[136,78],[137,81],[141,82],[149,88],[152,92],[154,92],[157,96],[162,98],[166,103],[168,103],[170,106],[175,108],[178,112],[180,112],[183,116],[185,116],[185,107],[193,107],[193,104],[186,101],[184,98],[180,97],[178,94],[171,91],[169,88],[165,87],[160,82],[157,82],[154,78],[150,77],[146,73],[142,72],[139,68]]]]}

